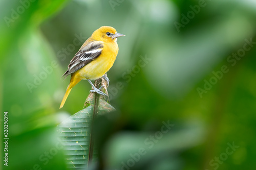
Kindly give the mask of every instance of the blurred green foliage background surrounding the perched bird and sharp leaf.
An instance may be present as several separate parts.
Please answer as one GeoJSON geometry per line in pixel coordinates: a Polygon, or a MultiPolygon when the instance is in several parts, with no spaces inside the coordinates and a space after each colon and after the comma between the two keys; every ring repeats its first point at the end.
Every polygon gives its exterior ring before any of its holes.
{"type": "Polygon", "coordinates": [[[59,110],[69,83],[60,77],[101,26],[126,37],[118,38],[108,72],[117,111],[99,120],[100,168],[255,169],[255,1],[4,0],[0,6],[1,127],[4,111],[9,115],[3,169],[66,169],[55,128],[83,108],[91,86],[80,82],[59,110]],[[165,124],[172,126],[162,133],[165,124]],[[146,154],[133,158],[139,148],[146,154]]]}

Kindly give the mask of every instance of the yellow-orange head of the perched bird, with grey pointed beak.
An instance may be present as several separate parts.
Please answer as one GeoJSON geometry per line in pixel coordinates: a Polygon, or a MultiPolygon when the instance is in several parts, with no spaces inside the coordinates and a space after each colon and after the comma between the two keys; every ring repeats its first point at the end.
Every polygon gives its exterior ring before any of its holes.
{"type": "Polygon", "coordinates": [[[93,39],[103,42],[116,42],[117,38],[122,36],[125,35],[117,33],[116,29],[108,26],[100,27],[92,34],[93,39]]]}

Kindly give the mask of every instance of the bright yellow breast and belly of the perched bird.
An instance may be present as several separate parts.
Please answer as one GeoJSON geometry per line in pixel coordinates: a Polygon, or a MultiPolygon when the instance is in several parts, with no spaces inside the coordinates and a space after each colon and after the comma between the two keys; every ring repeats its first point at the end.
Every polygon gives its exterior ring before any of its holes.
{"type": "Polygon", "coordinates": [[[102,53],[99,57],[77,70],[75,74],[81,79],[99,79],[113,66],[117,54],[118,45],[116,42],[104,43],[102,53]]]}

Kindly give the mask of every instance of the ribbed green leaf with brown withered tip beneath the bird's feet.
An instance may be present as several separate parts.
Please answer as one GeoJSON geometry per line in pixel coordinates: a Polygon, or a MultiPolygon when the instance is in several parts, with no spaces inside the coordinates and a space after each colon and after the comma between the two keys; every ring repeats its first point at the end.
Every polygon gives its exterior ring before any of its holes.
{"type": "MultiPolygon", "coordinates": [[[[70,116],[58,126],[58,133],[63,144],[67,167],[87,168],[92,133],[93,109],[95,93],[90,93],[85,108],[70,116]]],[[[114,111],[109,103],[100,96],[98,115],[114,111]]],[[[93,160],[97,160],[97,150],[94,149],[93,160]]]]}

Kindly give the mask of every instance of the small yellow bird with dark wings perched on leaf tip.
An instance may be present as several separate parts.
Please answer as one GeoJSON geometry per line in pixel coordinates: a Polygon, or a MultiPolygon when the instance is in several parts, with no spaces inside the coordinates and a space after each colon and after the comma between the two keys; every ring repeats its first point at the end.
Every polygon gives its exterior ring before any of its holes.
{"type": "MultiPolygon", "coordinates": [[[[101,78],[113,66],[118,53],[117,37],[121,36],[125,35],[117,33],[113,27],[103,26],[94,31],[92,36],[83,43],[63,75],[64,78],[71,75],[71,79],[59,108],[63,107],[71,89],[80,80],[89,81],[93,87],[90,92],[106,95],[100,91],[102,86],[97,89],[91,80],[101,78]]],[[[104,78],[109,83],[109,79],[104,78]]]]}

